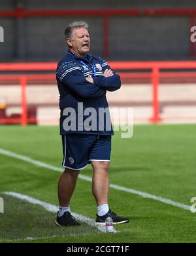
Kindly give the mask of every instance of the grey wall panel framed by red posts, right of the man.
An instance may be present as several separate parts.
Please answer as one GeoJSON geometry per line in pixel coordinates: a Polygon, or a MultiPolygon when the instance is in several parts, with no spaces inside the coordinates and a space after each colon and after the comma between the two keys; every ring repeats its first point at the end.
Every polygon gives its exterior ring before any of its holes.
{"type": "Polygon", "coordinates": [[[189,18],[115,17],[110,19],[112,58],[187,58],[189,18]]]}

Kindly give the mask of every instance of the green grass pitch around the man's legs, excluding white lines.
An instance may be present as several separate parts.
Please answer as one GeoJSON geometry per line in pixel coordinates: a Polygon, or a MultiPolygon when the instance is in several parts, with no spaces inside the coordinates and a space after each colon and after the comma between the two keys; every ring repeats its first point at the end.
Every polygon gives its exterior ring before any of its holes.
{"type": "MultiPolygon", "coordinates": [[[[191,205],[196,196],[196,125],[135,125],[131,139],[112,138],[110,183],[174,202],[191,205]]],[[[0,126],[0,148],[33,160],[61,167],[58,127],[0,126]]],[[[92,169],[80,172],[91,177],[92,169]]],[[[3,194],[18,192],[58,205],[60,173],[0,154],[0,242],[196,242],[196,213],[167,203],[110,188],[110,207],[130,218],[115,225],[116,233],[97,228],[58,227],[56,213],[39,205],[3,194]]],[[[91,182],[78,179],[71,210],[95,219],[91,182]]]]}

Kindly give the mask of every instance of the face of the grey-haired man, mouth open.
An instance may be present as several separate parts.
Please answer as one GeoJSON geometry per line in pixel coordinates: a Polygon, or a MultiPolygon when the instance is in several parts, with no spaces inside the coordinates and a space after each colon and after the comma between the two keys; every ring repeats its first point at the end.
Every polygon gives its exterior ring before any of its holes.
{"type": "Polygon", "coordinates": [[[85,56],[90,50],[90,36],[86,28],[76,28],[73,30],[71,39],[67,39],[71,51],[78,56],[85,56]]]}

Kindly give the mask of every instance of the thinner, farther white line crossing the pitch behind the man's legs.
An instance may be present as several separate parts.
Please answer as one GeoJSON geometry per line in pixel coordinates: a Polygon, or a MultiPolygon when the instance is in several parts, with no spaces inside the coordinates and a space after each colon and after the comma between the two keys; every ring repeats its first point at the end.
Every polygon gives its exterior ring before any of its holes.
{"type": "MultiPolygon", "coordinates": [[[[42,161],[36,161],[36,160],[33,160],[32,158],[29,158],[27,156],[22,156],[20,154],[16,154],[16,153],[10,152],[8,150],[3,150],[2,148],[0,148],[0,154],[3,154],[5,156],[9,156],[9,157],[12,157],[12,158],[17,158],[17,159],[20,159],[20,160],[23,160],[23,161],[27,161],[29,163],[33,163],[34,165],[37,165],[39,167],[44,167],[44,168],[47,168],[47,169],[50,169],[50,170],[53,170],[53,171],[59,171],[61,173],[63,172],[62,168],[56,167],[54,165],[48,165],[47,163],[43,163],[42,161]]],[[[79,175],[78,177],[80,179],[84,180],[84,181],[90,181],[90,182],[92,181],[91,178],[86,176],[86,175],[79,175]]],[[[118,186],[116,184],[110,184],[110,188],[114,188],[116,190],[120,190],[120,191],[128,192],[128,193],[131,193],[131,194],[139,195],[139,196],[142,196],[143,198],[150,198],[150,199],[153,199],[153,200],[157,200],[159,202],[167,203],[169,205],[173,205],[173,206],[185,209],[185,210],[189,210],[189,211],[191,210],[191,206],[189,206],[189,205],[174,202],[174,201],[169,200],[167,198],[161,198],[160,196],[155,196],[155,195],[148,194],[146,192],[142,192],[142,191],[135,190],[135,189],[132,189],[132,188],[125,188],[124,186],[118,186]]]]}

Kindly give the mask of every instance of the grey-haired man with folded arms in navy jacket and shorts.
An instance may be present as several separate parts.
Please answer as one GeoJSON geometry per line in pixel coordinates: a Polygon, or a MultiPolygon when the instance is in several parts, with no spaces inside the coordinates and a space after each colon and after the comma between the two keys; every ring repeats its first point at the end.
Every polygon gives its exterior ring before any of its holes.
{"type": "Polygon", "coordinates": [[[80,225],[71,215],[69,203],[78,173],[88,163],[93,167],[92,192],[97,203],[96,223],[105,223],[108,216],[112,217],[114,223],[127,223],[128,219],[118,217],[108,207],[108,168],[113,131],[111,123],[108,125],[108,112],[105,112],[107,117],[104,119],[99,117],[101,110],[108,109],[106,91],[120,89],[120,76],[99,56],[88,54],[90,35],[86,22],[69,24],[65,29],[65,39],[69,50],[59,61],[56,73],[61,109],[62,165],[65,167],[58,183],[59,211],[56,224],[80,225]],[[84,114],[86,112],[91,112],[91,116],[84,114]]]}

